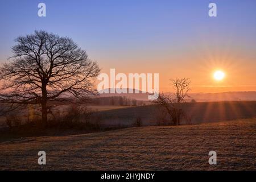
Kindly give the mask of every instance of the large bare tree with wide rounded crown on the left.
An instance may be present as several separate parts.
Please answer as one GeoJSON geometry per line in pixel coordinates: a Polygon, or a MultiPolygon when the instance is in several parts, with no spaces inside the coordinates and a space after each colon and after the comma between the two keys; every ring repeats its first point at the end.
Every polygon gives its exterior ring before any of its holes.
{"type": "Polygon", "coordinates": [[[50,101],[94,93],[100,69],[72,39],[46,31],[19,36],[10,61],[0,67],[0,101],[15,106],[39,104],[47,123],[50,101]]]}

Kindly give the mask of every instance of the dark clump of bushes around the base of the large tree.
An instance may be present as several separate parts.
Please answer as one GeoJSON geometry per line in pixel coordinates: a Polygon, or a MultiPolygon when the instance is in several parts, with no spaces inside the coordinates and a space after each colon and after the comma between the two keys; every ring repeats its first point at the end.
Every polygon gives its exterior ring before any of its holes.
{"type": "Polygon", "coordinates": [[[61,135],[76,134],[101,130],[101,118],[88,107],[70,105],[61,114],[59,110],[48,114],[48,122],[42,122],[40,117],[26,121],[26,117],[15,114],[6,116],[9,133],[18,135],[61,135]]]}

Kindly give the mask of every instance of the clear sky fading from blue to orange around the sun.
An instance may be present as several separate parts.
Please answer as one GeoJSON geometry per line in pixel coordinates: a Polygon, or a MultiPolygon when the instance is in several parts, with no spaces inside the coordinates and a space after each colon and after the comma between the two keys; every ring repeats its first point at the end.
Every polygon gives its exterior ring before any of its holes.
{"type": "Polygon", "coordinates": [[[256,91],[255,19],[255,0],[0,0],[0,63],[17,36],[46,30],[72,38],[103,73],[159,73],[163,92],[180,77],[192,92],[256,91]]]}

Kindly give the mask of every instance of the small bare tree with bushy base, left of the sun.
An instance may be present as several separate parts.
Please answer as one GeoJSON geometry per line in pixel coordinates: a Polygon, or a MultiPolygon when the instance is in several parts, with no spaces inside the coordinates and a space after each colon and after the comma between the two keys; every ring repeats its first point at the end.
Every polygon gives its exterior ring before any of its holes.
{"type": "Polygon", "coordinates": [[[175,93],[173,95],[161,93],[154,102],[167,111],[173,125],[180,125],[181,115],[184,114],[180,104],[185,102],[185,98],[189,97],[188,92],[191,90],[189,88],[191,81],[189,78],[176,78],[170,79],[170,81],[175,93]]]}

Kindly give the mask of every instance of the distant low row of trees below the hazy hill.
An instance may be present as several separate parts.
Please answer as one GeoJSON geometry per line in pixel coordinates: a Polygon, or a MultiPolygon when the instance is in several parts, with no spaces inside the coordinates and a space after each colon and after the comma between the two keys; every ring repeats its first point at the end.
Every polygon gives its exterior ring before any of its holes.
{"type": "Polygon", "coordinates": [[[125,96],[113,97],[95,97],[90,100],[92,104],[96,105],[113,105],[113,106],[141,106],[143,101],[138,101],[125,96]]]}

